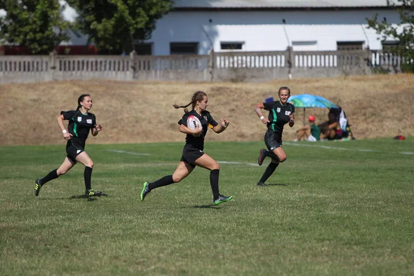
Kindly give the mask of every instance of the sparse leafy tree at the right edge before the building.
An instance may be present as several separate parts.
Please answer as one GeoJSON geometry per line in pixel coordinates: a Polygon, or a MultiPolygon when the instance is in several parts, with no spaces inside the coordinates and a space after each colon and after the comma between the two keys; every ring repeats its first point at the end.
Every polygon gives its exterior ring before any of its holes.
{"type": "Polygon", "coordinates": [[[414,72],[414,0],[396,0],[396,2],[387,0],[387,5],[397,10],[401,22],[397,26],[386,22],[386,19],[378,22],[378,14],[375,14],[372,19],[366,19],[368,26],[382,35],[382,41],[389,37],[397,40],[396,46],[385,50],[393,55],[404,57],[406,62],[401,66],[403,72],[414,72]]]}

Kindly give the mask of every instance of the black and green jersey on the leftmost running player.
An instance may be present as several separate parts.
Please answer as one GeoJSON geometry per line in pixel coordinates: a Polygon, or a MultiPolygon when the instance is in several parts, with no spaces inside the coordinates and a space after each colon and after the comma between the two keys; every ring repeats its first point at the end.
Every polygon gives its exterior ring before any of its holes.
{"type": "Polygon", "coordinates": [[[85,115],[79,110],[61,111],[61,115],[63,119],[69,120],[68,132],[73,135],[70,139],[84,148],[90,129],[97,125],[95,115],[89,112],[85,115]]]}

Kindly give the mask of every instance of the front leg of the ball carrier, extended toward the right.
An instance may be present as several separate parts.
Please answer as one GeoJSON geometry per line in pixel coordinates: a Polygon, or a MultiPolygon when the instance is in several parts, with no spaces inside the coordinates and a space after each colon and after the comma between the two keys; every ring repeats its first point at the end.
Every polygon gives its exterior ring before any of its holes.
{"type": "Polygon", "coordinates": [[[206,168],[210,170],[210,186],[213,192],[213,202],[214,204],[220,204],[222,202],[229,201],[233,198],[233,195],[226,197],[220,195],[219,193],[219,174],[220,174],[220,165],[210,157],[210,155],[204,154],[195,160],[194,164],[201,168],[206,168]]]}

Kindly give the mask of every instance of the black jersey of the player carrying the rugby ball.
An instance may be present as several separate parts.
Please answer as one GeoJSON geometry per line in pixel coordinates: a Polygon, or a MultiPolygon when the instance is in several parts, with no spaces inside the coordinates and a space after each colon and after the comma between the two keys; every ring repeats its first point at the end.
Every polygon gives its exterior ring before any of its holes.
{"type": "Polygon", "coordinates": [[[198,148],[199,150],[203,150],[204,149],[204,137],[206,137],[207,129],[217,126],[218,125],[217,121],[215,121],[213,117],[211,117],[210,112],[202,111],[201,116],[200,116],[193,109],[190,112],[184,114],[181,120],[178,121],[178,124],[187,126],[187,118],[190,117],[190,115],[193,115],[200,120],[203,131],[201,132],[201,135],[199,137],[194,137],[193,135],[188,134],[186,136],[186,144],[191,144],[195,148],[198,148]]]}

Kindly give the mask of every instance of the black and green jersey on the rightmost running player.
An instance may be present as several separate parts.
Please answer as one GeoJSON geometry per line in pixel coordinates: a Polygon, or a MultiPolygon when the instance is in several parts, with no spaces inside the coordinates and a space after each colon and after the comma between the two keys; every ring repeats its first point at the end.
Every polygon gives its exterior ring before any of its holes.
{"type": "Polygon", "coordinates": [[[263,103],[263,106],[265,110],[269,111],[268,129],[282,137],[283,127],[290,121],[289,115],[295,112],[295,106],[291,103],[286,103],[286,106],[283,106],[280,101],[269,101],[263,103]]]}

